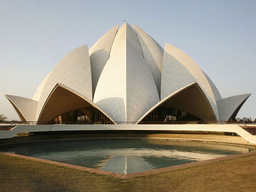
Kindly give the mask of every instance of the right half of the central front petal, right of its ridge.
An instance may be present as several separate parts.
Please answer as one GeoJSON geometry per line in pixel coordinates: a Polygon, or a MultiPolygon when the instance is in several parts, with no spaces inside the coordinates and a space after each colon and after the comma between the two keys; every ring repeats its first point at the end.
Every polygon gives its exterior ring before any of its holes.
{"type": "Polygon", "coordinates": [[[150,69],[133,45],[126,42],[127,121],[138,121],[159,102],[156,84],[150,69]]]}

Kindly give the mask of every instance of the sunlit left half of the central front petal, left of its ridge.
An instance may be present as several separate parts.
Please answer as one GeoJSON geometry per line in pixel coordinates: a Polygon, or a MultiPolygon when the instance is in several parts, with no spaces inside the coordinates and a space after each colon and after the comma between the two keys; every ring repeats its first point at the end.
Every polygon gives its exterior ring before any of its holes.
{"type": "Polygon", "coordinates": [[[123,41],[106,63],[93,99],[114,121],[126,121],[126,43],[123,41]]]}

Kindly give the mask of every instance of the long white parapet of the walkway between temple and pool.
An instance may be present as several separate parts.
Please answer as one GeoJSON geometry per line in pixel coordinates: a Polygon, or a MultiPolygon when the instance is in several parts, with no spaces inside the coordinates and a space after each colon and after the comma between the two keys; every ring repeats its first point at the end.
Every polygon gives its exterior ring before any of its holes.
{"type": "Polygon", "coordinates": [[[251,144],[256,144],[256,135],[251,135],[238,125],[186,124],[186,125],[17,125],[11,130],[0,131],[0,139],[12,138],[21,132],[39,131],[92,131],[92,130],[148,130],[148,131],[215,131],[233,132],[251,144]]]}

